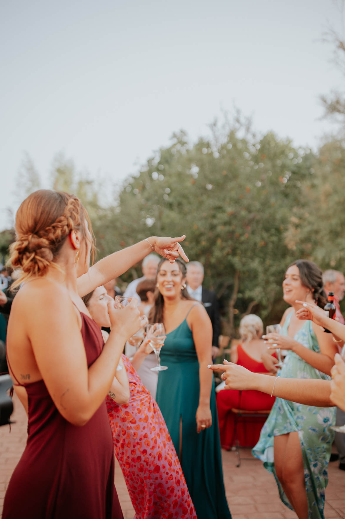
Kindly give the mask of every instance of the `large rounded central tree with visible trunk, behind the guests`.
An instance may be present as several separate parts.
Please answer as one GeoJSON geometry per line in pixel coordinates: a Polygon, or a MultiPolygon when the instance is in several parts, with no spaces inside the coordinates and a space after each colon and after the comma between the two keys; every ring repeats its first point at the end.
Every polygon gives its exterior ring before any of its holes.
{"type": "Polygon", "coordinates": [[[229,333],[234,315],[281,314],[281,279],[295,259],[284,235],[313,160],[272,133],[255,138],[246,124],[215,124],[212,137],[194,145],[175,134],[125,182],[106,215],[102,251],[186,234],[187,254],[205,265],[206,283],[224,303],[229,333]]]}

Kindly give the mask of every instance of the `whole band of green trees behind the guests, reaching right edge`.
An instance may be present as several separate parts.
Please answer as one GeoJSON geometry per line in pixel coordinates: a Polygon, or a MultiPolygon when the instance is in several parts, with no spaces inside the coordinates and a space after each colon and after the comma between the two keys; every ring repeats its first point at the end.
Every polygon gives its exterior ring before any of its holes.
{"type": "MultiPolygon", "coordinates": [[[[28,194],[37,178],[32,162],[26,167],[28,194]]],[[[147,236],[185,234],[186,253],[205,265],[205,284],[221,299],[223,331],[234,336],[248,312],[267,323],[280,320],[281,281],[298,257],[345,270],[339,238],[345,216],[338,210],[344,167],[341,140],[325,141],[314,155],[274,133],[257,137],[248,120],[236,117],[215,122],[209,138],[195,143],[182,131],[172,135],[125,180],[111,206],[102,203],[96,181],[61,154],[51,186],[81,198],[98,258],[147,236]]],[[[137,265],[122,278],[140,275],[137,265]]]]}

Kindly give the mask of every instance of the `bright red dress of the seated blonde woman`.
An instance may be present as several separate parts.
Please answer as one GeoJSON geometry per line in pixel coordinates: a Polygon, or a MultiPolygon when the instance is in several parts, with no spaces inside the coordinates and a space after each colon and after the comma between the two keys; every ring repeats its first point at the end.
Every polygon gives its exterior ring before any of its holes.
{"type": "MultiPolygon", "coordinates": [[[[237,364],[244,366],[253,373],[268,373],[262,362],[257,362],[237,346],[237,364]]],[[[246,409],[246,411],[269,410],[275,402],[274,397],[261,391],[237,391],[224,389],[217,394],[217,410],[221,445],[230,449],[235,442],[235,415],[231,409],[246,409]]],[[[241,447],[254,447],[258,442],[266,417],[241,418],[237,424],[237,438],[241,447]],[[245,420],[242,422],[242,420],[245,420]]]]}

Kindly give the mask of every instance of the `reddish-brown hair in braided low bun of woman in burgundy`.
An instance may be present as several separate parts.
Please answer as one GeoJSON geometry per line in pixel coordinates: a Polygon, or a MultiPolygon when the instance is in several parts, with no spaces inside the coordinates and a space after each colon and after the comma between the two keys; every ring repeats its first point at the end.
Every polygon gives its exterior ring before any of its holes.
{"type": "MultiPolygon", "coordinates": [[[[13,288],[44,276],[51,266],[60,269],[55,260],[70,231],[77,229],[86,239],[85,220],[92,233],[88,213],[74,195],[39,189],[25,198],[16,214],[17,240],[10,245],[10,263],[22,274],[13,288]]],[[[93,253],[93,241],[91,248],[93,253]]]]}

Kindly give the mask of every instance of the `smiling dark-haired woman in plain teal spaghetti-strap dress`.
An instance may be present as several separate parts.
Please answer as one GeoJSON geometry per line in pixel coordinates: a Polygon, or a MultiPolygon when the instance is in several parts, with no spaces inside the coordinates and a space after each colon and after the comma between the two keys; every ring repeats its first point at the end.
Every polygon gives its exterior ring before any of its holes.
{"type": "Polygon", "coordinates": [[[212,325],[185,290],[185,265],[162,260],[150,322],[163,322],[166,339],[156,401],[179,457],[198,519],[231,519],[223,483],[212,363],[212,325]]]}

